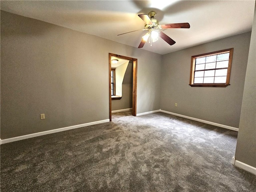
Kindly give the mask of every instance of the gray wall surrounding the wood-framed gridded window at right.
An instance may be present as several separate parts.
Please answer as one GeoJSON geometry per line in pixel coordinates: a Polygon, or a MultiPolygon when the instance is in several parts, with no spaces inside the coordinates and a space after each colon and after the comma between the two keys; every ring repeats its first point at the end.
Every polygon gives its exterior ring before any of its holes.
{"type": "Polygon", "coordinates": [[[172,52],[163,56],[160,108],[238,128],[250,32],[172,52]],[[234,48],[230,86],[191,87],[191,56],[234,48]],[[174,106],[178,103],[178,107],[174,106]]]}

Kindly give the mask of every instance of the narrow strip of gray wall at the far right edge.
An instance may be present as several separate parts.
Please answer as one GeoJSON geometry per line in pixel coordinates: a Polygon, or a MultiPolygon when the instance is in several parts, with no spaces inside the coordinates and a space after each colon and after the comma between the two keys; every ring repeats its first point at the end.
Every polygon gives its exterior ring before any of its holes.
{"type": "Polygon", "coordinates": [[[256,167],[256,7],[244,82],[235,158],[256,167]]]}

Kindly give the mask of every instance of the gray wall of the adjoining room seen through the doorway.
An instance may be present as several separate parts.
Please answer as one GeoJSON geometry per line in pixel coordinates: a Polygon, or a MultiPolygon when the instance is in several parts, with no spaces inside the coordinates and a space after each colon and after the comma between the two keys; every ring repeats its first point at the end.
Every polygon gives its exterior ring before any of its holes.
{"type": "Polygon", "coordinates": [[[112,100],[112,111],[132,108],[132,70],[133,63],[129,62],[122,82],[122,98],[112,100]]]}

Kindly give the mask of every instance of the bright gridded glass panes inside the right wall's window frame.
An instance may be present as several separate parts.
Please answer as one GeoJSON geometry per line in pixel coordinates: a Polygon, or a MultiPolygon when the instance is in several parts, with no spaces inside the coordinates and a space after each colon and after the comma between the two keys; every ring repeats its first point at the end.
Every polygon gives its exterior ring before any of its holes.
{"type": "Polygon", "coordinates": [[[226,83],[229,53],[196,58],[194,84],[226,83]]]}

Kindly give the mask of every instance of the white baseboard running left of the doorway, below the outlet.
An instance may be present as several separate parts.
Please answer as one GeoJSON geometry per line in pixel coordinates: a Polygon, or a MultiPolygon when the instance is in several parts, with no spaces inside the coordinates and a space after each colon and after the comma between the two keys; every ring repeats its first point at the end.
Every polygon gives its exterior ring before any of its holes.
{"type": "Polygon", "coordinates": [[[47,134],[52,134],[52,133],[56,133],[56,132],[61,132],[61,131],[81,128],[81,127],[86,127],[86,126],[90,126],[90,125],[106,123],[106,122],[109,122],[109,121],[110,121],[109,119],[105,119],[105,120],[94,121],[94,122],[90,122],[90,123],[73,125],[73,126],[64,127],[64,128],[58,128],[58,129],[42,131],[42,132],[38,132],[38,133],[32,133],[32,134],[22,135],[22,136],[8,138],[8,139],[2,139],[0,142],[1,142],[1,144],[10,143],[10,142],[14,142],[14,141],[18,141],[18,140],[23,140],[23,139],[28,139],[28,138],[32,138],[32,137],[38,137],[38,136],[42,136],[42,135],[47,135],[47,134]]]}

